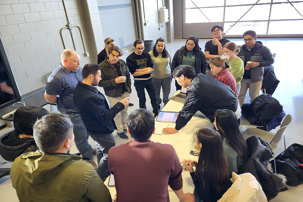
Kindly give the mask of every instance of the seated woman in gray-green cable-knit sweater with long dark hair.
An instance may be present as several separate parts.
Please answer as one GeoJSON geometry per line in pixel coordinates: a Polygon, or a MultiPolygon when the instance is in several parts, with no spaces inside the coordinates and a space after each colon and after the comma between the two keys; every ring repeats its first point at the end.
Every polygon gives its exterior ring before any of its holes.
{"type": "Polygon", "coordinates": [[[229,175],[237,173],[238,169],[248,159],[250,152],[244,140],[236,118],[236,114],[228,109],[217,110],[214,125],[223,138],[223,147],[229,165],[229,175]]]}

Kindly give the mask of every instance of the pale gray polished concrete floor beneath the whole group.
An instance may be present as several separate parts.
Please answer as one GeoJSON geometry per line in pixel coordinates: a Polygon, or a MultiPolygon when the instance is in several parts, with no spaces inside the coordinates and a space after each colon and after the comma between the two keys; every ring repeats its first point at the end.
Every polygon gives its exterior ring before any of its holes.
{"type": "MultiPolygon", "coordinates": [[[[206,39],[201,39],[199,42],[202,51],[204,51],[204,45],[206,39]]],[[[230,39],[230,41],[235,42],[237,45],[242,45],[244,42],[241,39],[230,39]]],[[[263,45],[267,46],[272,53],[276,53],[275,63],[273,64],[275,68],[275,73],[277,78],[281,81],[277,87],[277,90],[273,94],[273,97],[279,100],[286,114],[291,114],[293,116],[293,123],[285,130],[286,147],[292,143],[303,144],[303,84],[302,84],[302,63],[299,56],[301,52],[301,47],[303,47],[302,39],[258,39],[257,41],[262,41],[263,45]],[[288,47],[291,47],[291,51],[288,47]]],[[[168,43],[166,48],[171,52],[172,55],[177,49],[180,49],[185,45],[186,40],[175,40],[172,43],[168,43]]],[[[173,57],[173,56],[172,56],[173,57]]],[[[122,57],[122,59],[124,59],[122,57]]],[[[83,66],[83,65],[82,65],[83,66]]],[[[101,92],[103,88],[98,87],[101,92]]],[[[131,103],[134,103],[133,107],[129,107],[128,111],[134,111],[139,108],[139,99],[137,97],[135,87],[133,86],[132,80],[132,94],[131,103]]],[[[172,82],[172,88],[170,96],[174,95],[176,92],[176,87],[174,81],[172,82]]],[[[146,92],[147,95],[147,92],[146,92]]],[[[150,99],[147,97],[146,105],[147,110],[152,111],[150,104],[150,99]]],[[[245,103],[249,103],[249,96],[247,95],[245,103]]],[[[161,107],[164,107],[161,104],[161,107]]],[[[50,106],[46,106],[46,109],[50,110],[50,106]]],[[[279,128],[279,127],[278,127],[279,128]]],[[[278,129],[277,128],[277,129],[278,129]]],[[[245,129],[245,128],[244,128],[245,129]]],[[[241,129],[241,130],[244,130],[241,129]]],[[[271,132],[276,133],[276,130],[271,132]]],[[[119,138],[116,133],[113,133],[116,141],[116,145],[124,144],[129,140],[125,141],[119,138]]],[[[128,134],[130,137],[130,135],[128,134]]],[[[94,147],[94,141],[89,138],[90,144],[94,147]]],[[[283,142],[278,146],[276,154],[284,151],[283,142]]],[[[76,146],[71,148],[71,153],[77,153],[78,150],[76,146]]],[[[97,159],[95,158],[95,161],[97,159]]],[[[3,163],[5,160],[0,156],[0,162],[3,163]]],[[[10,167],[12,163],[6,163],[0,165],[1,168],[10,167]]],[[[282,202],[282,201],[302,201],[303,196],[303,186],[289,187],[288,191],[281,192],[276,198],[271,200],[272,202],[282,202]]],[[[0,202],[10,201],[17,202],[18,198],[16,191],[12,187],[10,176],[2,177],[0,179],[0,202]]]]}

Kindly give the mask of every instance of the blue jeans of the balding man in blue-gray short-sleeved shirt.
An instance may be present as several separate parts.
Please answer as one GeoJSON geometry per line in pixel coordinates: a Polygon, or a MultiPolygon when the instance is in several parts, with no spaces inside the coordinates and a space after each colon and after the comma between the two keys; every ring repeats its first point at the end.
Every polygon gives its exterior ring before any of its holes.
{"type": "Polygon", "coordinates": [[[74,124],[75,144],[77,149],[83,157],[87,157],[90,160],[94,160],[93,153],[91,151],[91,145],[88,144],[88,134],[84,123],[80,117],[80,114],[69,113],[66,115],[69,116],[71,122],[74,124]]]}

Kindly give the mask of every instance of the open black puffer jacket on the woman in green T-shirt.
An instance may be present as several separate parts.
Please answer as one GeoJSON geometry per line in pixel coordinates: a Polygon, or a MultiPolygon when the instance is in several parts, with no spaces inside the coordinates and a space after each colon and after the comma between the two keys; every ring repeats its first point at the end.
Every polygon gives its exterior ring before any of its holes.
{"type": "MultiPolygon", "coordinates": [[[[178,67],[179,65],[182,64],[183,52],[184,52],[185,48],[186,47],[183,46],[182,48],[180,48],[179,50],[176,51],[174,58],[172,59],[172,72],[174,71],[174,69],[176,67],[178,67]]],[[[198,54],[198,56],[196,56],[195,67],[193,67],[193,68],[195,68],[196,74],[199,74],[199,73],[205,74],[205,71],[207,68],[207,62],[205,60],[204,53],[201,50],[199,50],[199,54],[198,54]]]]}

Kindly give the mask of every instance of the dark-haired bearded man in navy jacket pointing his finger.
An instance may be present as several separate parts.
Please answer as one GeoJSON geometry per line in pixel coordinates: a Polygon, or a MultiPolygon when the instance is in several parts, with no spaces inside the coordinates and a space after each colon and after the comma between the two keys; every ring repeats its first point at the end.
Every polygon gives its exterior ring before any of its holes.
{"type": "Polygon", "coordinates": [[[78,107],[88,134],[97,145],[97,173],[104,181],[110,175],[107,165],[107,152],[115,146],[112,132],[116,129],[114,117],[129,103],[129,97],[109,108],[105,96],[97,90],[101,80],[101,70],[97,64],[85,64],[82,70],[83,81],[79,81],[74,91],[74,102],[78,107]]]}

